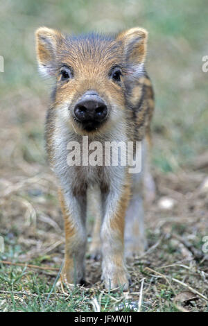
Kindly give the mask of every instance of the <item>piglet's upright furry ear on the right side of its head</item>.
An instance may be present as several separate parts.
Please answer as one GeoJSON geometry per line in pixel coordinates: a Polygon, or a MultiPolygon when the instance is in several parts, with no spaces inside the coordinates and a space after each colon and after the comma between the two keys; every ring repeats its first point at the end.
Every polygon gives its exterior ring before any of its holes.
{"type": "Polygon", "coordinates": [[[129,64],[140,65],[146,58],[148,32],[144,28],[130,28],[117,35],[116,40],[123,45],[125,59],[129,64]]]}

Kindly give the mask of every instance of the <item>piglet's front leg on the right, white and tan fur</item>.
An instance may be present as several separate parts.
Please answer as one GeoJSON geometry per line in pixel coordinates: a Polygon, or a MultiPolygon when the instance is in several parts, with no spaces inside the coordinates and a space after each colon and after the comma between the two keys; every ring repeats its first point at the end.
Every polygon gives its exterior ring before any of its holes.
{"type": "Polygon", "coordinates": [[[121,286],[128,289],[128,274],[124,261],[125,210],[130,197],[128,180],[120,190],[110,191],[105,199],[105,217],[101,228],[103,280],[107,289],[121,286]]]}

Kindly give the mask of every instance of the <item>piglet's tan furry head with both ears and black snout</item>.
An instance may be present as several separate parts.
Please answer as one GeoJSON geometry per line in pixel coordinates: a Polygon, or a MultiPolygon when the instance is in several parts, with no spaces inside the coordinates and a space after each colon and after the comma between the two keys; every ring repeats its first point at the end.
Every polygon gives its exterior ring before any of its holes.
{"type": "Polygon", "coordinates": [[[37,62],[55,78],[53,110],[76,132],[105,132],[125,117],[129,85],[144,74],[148,34],[130,28],[115,37],[36,31],[37,62]]]}

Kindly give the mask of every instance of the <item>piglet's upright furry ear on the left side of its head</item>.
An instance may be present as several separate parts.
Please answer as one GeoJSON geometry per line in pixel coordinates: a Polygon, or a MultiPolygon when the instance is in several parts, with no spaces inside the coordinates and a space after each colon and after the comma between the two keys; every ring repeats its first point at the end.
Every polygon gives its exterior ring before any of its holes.
{"type": "Polygon", "coordinates": [[[40,27],[35,32],[35,39],[40,73],[44,76],[52,76],[55,69],[55,55],[63,37],[59,31],[40,27]]]}

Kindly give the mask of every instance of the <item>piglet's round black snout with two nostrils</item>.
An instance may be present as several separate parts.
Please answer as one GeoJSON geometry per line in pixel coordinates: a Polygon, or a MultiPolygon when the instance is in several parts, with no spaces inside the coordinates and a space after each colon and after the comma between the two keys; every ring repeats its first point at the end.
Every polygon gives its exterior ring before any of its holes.
{"type": "Polygon", "coordinates": [[[107,116],[107,106],[98,94],[87,92],[74,108],[76,119],[80,122],[101,122],[107,116]]]}

